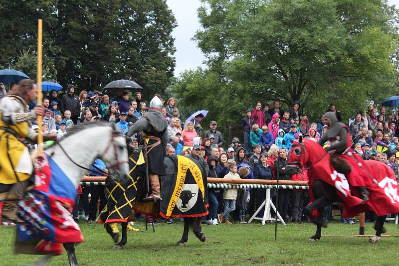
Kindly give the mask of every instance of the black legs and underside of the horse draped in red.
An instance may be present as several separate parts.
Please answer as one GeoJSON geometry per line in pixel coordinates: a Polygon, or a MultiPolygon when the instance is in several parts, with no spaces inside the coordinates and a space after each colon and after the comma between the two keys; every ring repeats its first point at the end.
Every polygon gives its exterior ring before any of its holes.
{"type": "MultiPolygon", "coordinates": [[[[329,206],[334,202],[341,202],[342,199],[337,195],[334,187],[321,180],[314,180],[311,184],[311,189],[315,200],[312,204],[305,207],[304,212],[312,217],[312,222],[317,226],[316,234],[309,238],[309,241],[315,242],[321,238],[321,228],[327,227],[327,221],[323,219],[324,207],[329,206]],[[319,211],[319,217],[313,217],[311,215],[313,210],[319,211]]],[[[381,233],[385,233],[386,231],[384,228],[386,218],[386,215],[377,217],[377,221],[374,225],[377,237],[381,237],[381,233]]],[[[372,240],[370,240],[370,242],[374,243],[372,240]]]]}

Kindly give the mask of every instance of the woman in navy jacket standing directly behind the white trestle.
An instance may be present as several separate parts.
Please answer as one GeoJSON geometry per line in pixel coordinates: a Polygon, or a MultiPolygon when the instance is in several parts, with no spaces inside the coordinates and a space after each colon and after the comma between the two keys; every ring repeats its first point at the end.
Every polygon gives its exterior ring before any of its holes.
{"type": "MultiPolygon", "coordinates": [[[[255,179],[264,179],[271,180],[273,179],[273,172],[270,165],[267,163],[269,156],[267,153],[262,153],[260,155],[260,163],[255,168],[254,177],[255,179]]],[[[264,189],[256,189],[255,195],[258,198],[258,206],[263,203],[266,199],[265,190],[264,189]]],[[[274,197],[275,190],[271,189],[270,197],[274,197]]],[[[263,207],[256,217],[263,217],[265,208],[263,207]]]]}

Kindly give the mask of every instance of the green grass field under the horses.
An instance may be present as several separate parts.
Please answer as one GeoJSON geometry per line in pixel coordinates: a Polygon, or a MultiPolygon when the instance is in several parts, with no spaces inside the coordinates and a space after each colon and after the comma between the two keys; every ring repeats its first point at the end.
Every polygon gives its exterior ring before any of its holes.
{"type": "MultiPolygon", "coordinates": [[[[176,247],[183,233],[183,224],[156,225],[156,232],[138,222],[144,232],[128,232],[123,250],[112,250],[113,242],[102,225],[80,223],[85,242],[77,246],[81,266],[153,266],[153,265],[399,265],[399,238],[382,238],[369,244],[367,238],[322,238],[309,243],[315,232],[311,224],[278,226],[274,241],[274,224],[233,224],[202,227],[206,234],[201,243],[190,232],[184,247],[176,247]]],[[[374,234],[373,224],[366,224],[366,234],[374,234]]],[[[395,224],[386,225],[387,234],[399,234],[395,224]]],[[[359,225],[330,223],[323,234],[351,235],[359,233],[359,225]]],[[[38,256],[13,253],[14,227],[0,229],[0,265],[27,265],[38,256]]],[[[51,265],[68,265],[65,254],[54,257],[51,265]]]]}

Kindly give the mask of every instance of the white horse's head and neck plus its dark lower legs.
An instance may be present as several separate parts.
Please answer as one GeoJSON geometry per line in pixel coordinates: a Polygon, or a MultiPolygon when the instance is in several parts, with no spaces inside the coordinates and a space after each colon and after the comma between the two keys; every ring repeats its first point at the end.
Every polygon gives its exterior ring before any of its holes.
{"type": "MultiPolygon", "coordinates": [[[[116,181],[128,178],[129,164],[126,139],[114,123],[89,122],[72,127],[64,138],[45,149],[45,153],[61,168],[65,175],[78,187],[82,176],[92,162],[104,161],[109,175],[116,181]]],[[[64,243],[69,265],[77,266],[74,243],[64,243]]],[[[52,255],[46,255],[36,262],[45,265],[52,255]]]]}

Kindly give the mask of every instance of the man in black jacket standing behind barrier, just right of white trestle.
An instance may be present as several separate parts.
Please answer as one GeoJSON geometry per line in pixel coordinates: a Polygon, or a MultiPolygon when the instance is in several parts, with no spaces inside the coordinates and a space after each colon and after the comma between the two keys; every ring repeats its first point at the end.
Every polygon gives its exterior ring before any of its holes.
{"type": "MultiPolygon", "coordinates": [[[[275,179],[279,180],[291,180],[290,175],[287,172],[287,150],[282,148],[279,150],[278,159],[274,162],[274,173],[275,179]]],[[[281,189],[278,195],[278,212],[281,217],[288,220],[288,204],[290,200],[291,190],[281,189]]]]}

